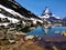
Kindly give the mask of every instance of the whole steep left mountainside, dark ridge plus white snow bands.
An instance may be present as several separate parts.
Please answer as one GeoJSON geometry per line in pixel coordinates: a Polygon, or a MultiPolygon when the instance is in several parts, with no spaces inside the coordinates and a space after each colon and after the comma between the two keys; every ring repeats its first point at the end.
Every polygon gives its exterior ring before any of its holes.
{"type": "Polygon", "coordinates": [[[26,10],[14,0],[0,0],[0,24],[16,23],[29,19],[41,20],[41,18],[26,10]]]}

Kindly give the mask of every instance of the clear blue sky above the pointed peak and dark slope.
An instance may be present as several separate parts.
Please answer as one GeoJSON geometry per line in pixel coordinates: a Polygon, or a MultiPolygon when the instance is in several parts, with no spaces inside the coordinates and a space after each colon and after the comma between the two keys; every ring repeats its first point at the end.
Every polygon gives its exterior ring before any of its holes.
{"type": "Polygon", "coordinates": [[[16,0],[21,6],[40,16],[45,7],[58,17],[66,17],[66,0],[16,0]]]}

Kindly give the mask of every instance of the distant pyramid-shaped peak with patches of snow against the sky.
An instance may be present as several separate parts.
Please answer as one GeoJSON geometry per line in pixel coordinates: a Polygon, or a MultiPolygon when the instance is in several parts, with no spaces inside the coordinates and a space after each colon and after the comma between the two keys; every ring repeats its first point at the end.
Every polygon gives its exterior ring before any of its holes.
{"type": "Polygon", "coordinates": [[[43,11],[40,18],[46,21],[51,21],[51,22],[61,21],[61,18],[53,14],[47,7],[45,8],[45,10],[43,11]]]}

